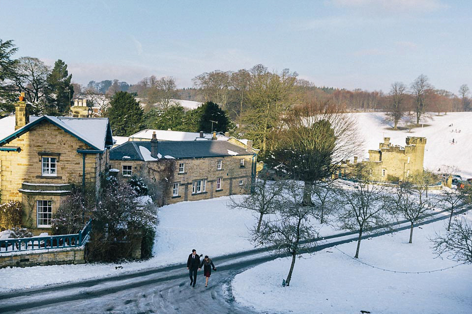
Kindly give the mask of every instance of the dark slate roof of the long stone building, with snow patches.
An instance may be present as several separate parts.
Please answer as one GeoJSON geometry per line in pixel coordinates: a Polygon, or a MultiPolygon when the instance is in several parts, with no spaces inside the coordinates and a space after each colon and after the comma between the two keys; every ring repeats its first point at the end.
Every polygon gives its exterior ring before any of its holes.
{"type": "MultiPolygon", "coordinates": [[[[151,150],[151,142],[129,141],[110,150],[110,159],[113,160],[145,160],[139,147],[143,146],[151,150]],[[123,158],[123,157],[129,158],[123,158]]],[[[253,153],[233,145],[226,141],[159,141],[157,152],[163,157],[183,158],[206,158],[206,157],[228,157],[248,156],[253,153]],[[230,152],[228,152],[230,151],[230,152]]],[[[156,156],[153,156],[156,157],[156,156]]],[[[157,158],[157,157],[156,157],[157,158]]]]}

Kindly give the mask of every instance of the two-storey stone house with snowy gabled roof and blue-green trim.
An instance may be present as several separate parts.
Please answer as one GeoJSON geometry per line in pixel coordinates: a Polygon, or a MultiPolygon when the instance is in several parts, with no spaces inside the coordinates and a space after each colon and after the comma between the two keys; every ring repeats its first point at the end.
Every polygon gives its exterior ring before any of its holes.
{"type": "Polygon", "coordinates": [[[23,98],[0,119],[0,202],[21,201],[23,226],[51,232],[71,184],[100,189],[113,145],[107,118],[30,116],[23,98]]]}

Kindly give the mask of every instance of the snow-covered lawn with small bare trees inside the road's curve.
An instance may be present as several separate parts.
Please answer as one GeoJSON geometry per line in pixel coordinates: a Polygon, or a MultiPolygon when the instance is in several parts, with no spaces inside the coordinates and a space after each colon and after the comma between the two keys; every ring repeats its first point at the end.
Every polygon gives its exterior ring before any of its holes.
{"type": "MultiPolygon", "coordinates": [[[[472,214],[469,213],[469,217],[472,214]]],[[[471,217],[472,218],[472,217],[471,217]]],[[[397,271],[430,271],[458,264],[435,259],[428,236],[444,221],[362,240],[360,261],[397,271]]],[[[354,256],[356,242],[337,246],[354,256]]],[[[236,275],[236,302],[263,313],[470,314],[472,265],[423,274],[387,272],[361,264],[335,248],[297,259],[290,287],[281,287],[291,259],[277,259],[236,275]]]]}

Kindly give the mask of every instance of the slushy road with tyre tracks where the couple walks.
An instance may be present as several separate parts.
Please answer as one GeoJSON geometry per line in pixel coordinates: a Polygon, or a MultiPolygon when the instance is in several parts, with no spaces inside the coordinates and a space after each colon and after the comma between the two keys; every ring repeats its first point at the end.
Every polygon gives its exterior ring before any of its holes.
{"type": "MultiPolygon", "coordinates": [[[[437,213],[421,224],[448,218],[437,213]]],[[[419,225],[421,225],[419,224],[419,225]]],[[[396,230],[410,228],[403,223],[396,230]]],[[[375,235],[374,237],[386,234],[375,235]]],[[[356,239],[352,233],[325,237],[312,251],[356,239]]],[[[27,289],[0,294],[0,313],[255,313],[238,305],[232,296],[231,280],[245,269],[281,257],[264,250],[251,250],[214,259],[210,286],[205,288],[203,272],[196,288],[189,284],[185,265],[173,265],[127,275],[27,289]]]]}

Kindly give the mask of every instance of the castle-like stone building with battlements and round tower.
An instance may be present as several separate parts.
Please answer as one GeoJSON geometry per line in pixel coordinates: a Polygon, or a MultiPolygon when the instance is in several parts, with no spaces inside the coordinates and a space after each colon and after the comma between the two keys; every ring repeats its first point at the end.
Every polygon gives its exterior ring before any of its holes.
{"type": "Polygon", "coordinates": [[[405,181],[410,175],[423,171],[426,138],[407,137],[406,146],[391,145],[390,137],[384,137],[379,149],[369,150],[370,168],[374,181],[405,181]]]}

